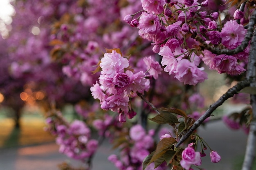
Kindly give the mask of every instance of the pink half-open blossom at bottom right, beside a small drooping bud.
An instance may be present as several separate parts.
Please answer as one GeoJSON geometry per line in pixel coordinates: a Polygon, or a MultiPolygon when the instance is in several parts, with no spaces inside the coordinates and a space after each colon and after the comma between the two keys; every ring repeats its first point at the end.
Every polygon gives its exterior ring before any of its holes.
{"type": "Polygon", "coordinates": [[[202,160],[200,158],[200,153],[195,152],[192,147],[186,147],[182,151],[182,160],[180,161],[180,165],[185,168],[185,170],[189,170],[191,165],[200,166],[202,164],[202,160]]]}

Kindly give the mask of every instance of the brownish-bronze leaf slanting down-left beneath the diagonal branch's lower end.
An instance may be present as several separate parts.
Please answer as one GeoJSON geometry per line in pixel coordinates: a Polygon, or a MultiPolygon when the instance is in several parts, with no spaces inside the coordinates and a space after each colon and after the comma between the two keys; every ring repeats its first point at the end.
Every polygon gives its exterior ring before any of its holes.
{"type": "Polygon", "coordinates": [[[164,153],[166,153],[166,151],[176,142],[177,141],[173,137],[166,137],[160,140],[149,164],[157,160],[159,157],[162,157],[162,155],[164,155],[164,153]]]}

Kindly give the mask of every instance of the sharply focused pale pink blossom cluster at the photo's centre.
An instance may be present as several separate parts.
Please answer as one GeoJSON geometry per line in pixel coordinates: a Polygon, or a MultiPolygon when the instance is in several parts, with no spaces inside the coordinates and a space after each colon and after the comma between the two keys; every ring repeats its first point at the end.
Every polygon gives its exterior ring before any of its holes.
{"type": "Polygon", "coordinates": [[[97,82],[91,87],[92,96],[100,100],[101,109],[118,112],[120,122],[125,122],[126,116],[133,118],[136,112],[129,107],[129,98],[148,90],[149,80],[145,73],[134,74],[128,70],[128,59],[116,50],[104,54],[100,67],[100,84],[97,82]]]}

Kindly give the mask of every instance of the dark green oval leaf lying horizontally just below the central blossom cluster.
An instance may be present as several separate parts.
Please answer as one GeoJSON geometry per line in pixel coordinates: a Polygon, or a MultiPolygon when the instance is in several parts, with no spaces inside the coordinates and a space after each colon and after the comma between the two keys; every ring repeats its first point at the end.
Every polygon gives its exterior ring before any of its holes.
{"type": "Polygon", "coordinates": [[[179,122],[177,117],[171,113],[159,113],[157,116],[150,118],[149,120],[152,120],[158,124],[174,124],[179,122]]]}

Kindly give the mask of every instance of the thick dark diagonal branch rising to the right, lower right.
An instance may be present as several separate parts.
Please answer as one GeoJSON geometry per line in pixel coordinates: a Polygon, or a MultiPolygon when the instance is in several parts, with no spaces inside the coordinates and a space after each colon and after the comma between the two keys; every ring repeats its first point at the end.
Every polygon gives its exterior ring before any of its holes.
{"type": "Polygon", "coordinates": [[[234,85],[232,88],[230,88],[225,94],[223,94],[215,103],[213,103],[209,107],[209,109],[207,109],[207,111],[197,121],[195,121],[193,126],[184,135],[182,135],[180,141],[176,144],[175,147],[180,146],[180,144],[182,144],[182,142],[184,142],[193,133],[193,131],[195,131],[195,129],[197,129],[198,126],[200,126],[200,124],[204,122],[206,118],[211,116],[211,113],[213,113],[213,111],[215,111],[220,105],[222,105],[228,98],[231,98],[232,96],[234,96],[234,94],[237,94],[241,89],[249,86],[250,82],[251,81],[248,79],[241,81],[234,85]]]}

